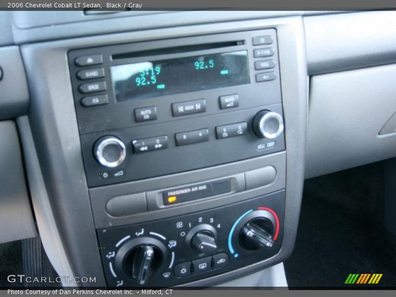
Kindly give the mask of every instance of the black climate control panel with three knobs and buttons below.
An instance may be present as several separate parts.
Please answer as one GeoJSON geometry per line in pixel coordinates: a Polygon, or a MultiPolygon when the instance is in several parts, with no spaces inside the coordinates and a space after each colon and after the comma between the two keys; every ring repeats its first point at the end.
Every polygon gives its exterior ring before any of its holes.
{"type": "Polygon", "coordinates": [[[168,287],[260,262],[283,237],[285,191],[198,213],[98,230],[108,287],[168,287]]]}

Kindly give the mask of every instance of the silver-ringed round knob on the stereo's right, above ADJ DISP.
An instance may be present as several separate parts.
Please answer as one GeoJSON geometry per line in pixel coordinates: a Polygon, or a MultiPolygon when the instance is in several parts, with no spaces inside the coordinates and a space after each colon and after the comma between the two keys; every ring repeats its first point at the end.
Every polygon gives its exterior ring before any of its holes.
{"type": "Polygon", "coordinates": [[[253,118],[254,133],[260,138],[277,138],[284,129],[282,116],[273,111],[261,110],[253,118]]]}

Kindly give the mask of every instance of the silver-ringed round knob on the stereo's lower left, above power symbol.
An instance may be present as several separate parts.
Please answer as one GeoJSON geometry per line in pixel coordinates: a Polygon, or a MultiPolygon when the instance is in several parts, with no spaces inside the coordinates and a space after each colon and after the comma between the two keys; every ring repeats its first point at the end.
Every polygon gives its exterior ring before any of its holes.
{"type": "Polygon", "coordinates": [[[100,165],[117,167],[125,160],[126,148],[115,136],[104,136],[95,143],[94,155],[100,165]]]}

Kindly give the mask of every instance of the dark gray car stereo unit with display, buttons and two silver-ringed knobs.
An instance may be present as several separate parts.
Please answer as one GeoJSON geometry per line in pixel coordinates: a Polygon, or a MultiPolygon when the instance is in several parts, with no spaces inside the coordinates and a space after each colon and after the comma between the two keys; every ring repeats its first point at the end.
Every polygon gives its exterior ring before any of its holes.
{"type": "Polygon", "coordinates": [[[88,185],[285,149],[274,29],[73,49],[88,185]]]}

